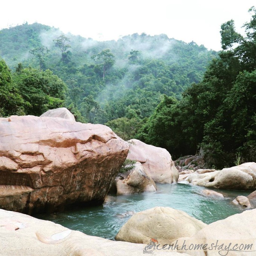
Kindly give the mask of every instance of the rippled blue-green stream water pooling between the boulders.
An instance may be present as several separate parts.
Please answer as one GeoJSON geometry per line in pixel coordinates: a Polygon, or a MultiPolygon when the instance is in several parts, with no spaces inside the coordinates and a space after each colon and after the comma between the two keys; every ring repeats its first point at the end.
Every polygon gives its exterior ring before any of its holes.
{"type": "Polygon", "coordinates": [[[201,195],[201,191],[205,188],[180,183],[157,184],[157,189],[157,192],[108,195],[101,206],[35,217],[53,221],[87,235],[114,239],[120,227],[131,217],[132,212],[140,212],[155,206],[172,207],[209,224],[235,213],[241,213],[244,209],[232,204],[232,200],[238,195],[250,194],[246,191],[216,190],[225,198],[206,197],[201,195]]]}

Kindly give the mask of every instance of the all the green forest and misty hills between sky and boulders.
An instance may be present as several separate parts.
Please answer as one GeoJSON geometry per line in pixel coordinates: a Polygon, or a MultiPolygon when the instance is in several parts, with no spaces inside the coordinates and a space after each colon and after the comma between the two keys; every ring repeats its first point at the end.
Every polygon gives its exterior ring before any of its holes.
{"type": "Polygon", "coordinates": [[[204,149],[209,166],[229,165],[236,154],[252,160],[253,24],[247,37],[233,21],[222,24],[221,52],[165,34],[95,41],[39,23],[2,29],[0,116],[66,107],[79,122],[106,124],[175,158],[204,149]]]}

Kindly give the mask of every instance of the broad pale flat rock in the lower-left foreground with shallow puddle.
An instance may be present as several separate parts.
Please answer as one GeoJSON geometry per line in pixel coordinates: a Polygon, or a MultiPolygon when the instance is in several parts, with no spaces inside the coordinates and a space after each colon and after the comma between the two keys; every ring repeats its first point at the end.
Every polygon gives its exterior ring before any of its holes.
{"type": "MultiPolygon", "coordinates": [[[[143,256],[145,245],[111,241],[67,229],[51,221],[0,209],[3,256],[143,256]]],[[[150,255],[165,256],[162,251],[150,255]]],[[[181,256],[172,252],[170,256],[181,256]]],[[[182,254],[188,256],[188,254],[182,254]]]]}

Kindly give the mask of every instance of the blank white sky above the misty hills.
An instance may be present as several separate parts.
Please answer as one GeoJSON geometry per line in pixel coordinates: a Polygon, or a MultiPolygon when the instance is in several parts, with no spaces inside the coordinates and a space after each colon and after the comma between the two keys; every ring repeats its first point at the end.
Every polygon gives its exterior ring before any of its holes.
{"type": "Polygon", "coordinates": [[[38,22],[101,41],[136,32],[166,34],[220,50],[221,24],[233,19],[242,32],[253,5],[255,0],[6,0],[0,29],[38,22]]]}

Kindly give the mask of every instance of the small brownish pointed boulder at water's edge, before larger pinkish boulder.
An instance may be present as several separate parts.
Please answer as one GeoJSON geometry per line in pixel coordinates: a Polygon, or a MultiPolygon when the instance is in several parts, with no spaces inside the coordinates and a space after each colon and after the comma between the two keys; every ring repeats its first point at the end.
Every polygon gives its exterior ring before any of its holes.
{"type": "Polygon", "coordinates": [[[134,168],[128,173],[117,175],[114,184],[116,185],[117,195],[127,195],[145,191],[153,192],[157,190],[155,182],[140,162],[136,162],[134,168]]]}

